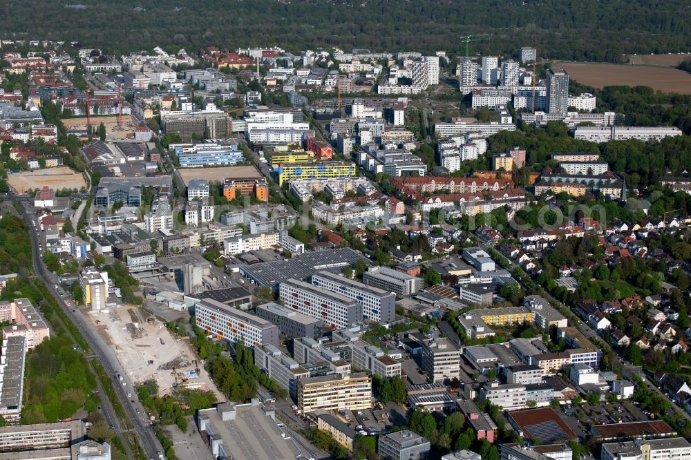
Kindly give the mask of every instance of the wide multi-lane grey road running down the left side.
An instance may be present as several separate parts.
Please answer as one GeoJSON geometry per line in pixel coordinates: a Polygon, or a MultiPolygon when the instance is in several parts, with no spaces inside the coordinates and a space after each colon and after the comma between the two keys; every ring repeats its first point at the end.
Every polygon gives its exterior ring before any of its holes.
{"type": "MultiPolygon", "coordinates": [[[[17,195],[10,195],[10,199],[19,204],[19,207],[21,207],[21,211],[23,213],[23,218],[29,227],[35,274],[44,280],[46,287],[51,294],[53,294],[53,297],[55,300],[57,300],[58,305],[60,305],[70,320],[72,320],[75,325],[79,326],[79,331],[82,332],[82,336],[84,336],[84,340],[91,348],[91,352],[93,352],[95,358],[101,362],[104,370],[106,370],[106,374],[109,378],[111,378],[113,387],[115,388],[115,393],[117,394],[118,399],[120,399],[120,402],[122,403],[122,406],[134,427],[135,435],[144,448],[147,457],[149,457],[149,459],[158,460],[158,452],[162,452],[163,448],[158,439],[155,437],[152,425],[145,419],[144,408],[140,403],[138,403],[137,395],[133,394],[134,387],[132,382],[124,372],[120,362],[117,361],[115,352],[113,352],[111,347],[106,345],[103,339],[92,327],[86,324],[86,321],[84,321],[84,325],[82,325],[82,320],[84,318],[79,317],[81,313],[71,309],[65,303],[64,298],[59,295],[57,289],[55,289],[55,285],[57,285],[57,277],[46,269],[46,266],[41,259],[43,242],[39,238],[37,220],[31,213],[32,205],[30,204],[29,199],[17,195]],[[124,380],[120,381],[118,376],[122,376],[124,380]]],[[[106,421],[110,421],[112,423],[112,421],[115,420],[117,422],[117,417],[110,413],[110,405],[102,405],[102,410],[104,411],[106,421]]],[[[119,423],[113,423],[113,425],[119,425],[119,423]]],[[[122,431],[124,432],[125,430],[122,431]]]]}

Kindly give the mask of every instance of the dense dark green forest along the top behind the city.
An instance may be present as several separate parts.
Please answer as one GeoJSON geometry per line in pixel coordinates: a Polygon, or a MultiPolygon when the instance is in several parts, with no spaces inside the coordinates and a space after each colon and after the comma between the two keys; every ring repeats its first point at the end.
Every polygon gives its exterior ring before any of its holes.
{"type": "Polygon", "coordinates": [[[175,45],[320,46],[462,52],[459,37],[485,54],[536,46],[541,56],[621,61],[623,53],[691,50],[685,0],[342,1],[6,0],[0,35],[79,40],[110,53],[175,45]]]}

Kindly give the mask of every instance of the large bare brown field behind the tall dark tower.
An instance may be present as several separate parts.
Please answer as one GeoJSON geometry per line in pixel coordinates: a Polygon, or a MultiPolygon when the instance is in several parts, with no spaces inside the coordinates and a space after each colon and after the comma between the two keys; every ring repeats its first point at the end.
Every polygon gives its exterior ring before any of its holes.
{"type": "Polygon", "coordinates": [[[576,82],[595,88],[605,86],[650,86],[665,93],[691,94],[691,73],[676,68],[595,64],[581,62],[555,62],[576,82]]]}

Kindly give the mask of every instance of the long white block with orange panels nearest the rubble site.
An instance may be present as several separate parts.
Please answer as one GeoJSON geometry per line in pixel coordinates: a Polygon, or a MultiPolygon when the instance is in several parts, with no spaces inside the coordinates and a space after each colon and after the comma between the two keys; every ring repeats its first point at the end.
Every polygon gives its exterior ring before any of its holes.
{"type": "Polygon", "coordinates": [[[243,341],[247,347],[270,344],[278,346],[278,326],[218,300],[205,298],[194,307],[196,325],[217,340],[243,341]]]}

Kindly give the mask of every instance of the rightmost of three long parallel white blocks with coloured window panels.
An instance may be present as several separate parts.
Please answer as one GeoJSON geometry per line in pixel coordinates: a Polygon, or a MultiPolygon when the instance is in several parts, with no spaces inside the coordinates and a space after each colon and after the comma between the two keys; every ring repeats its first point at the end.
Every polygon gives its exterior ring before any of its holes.
{"type": "Polygon", "coordinates": [[[330,271],[312,275],[312,284],[356,300],[362,305],[363,318],[390,323],[396,315],[396,296],[390,291],[368,286],[330,271]]]}

